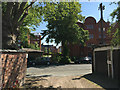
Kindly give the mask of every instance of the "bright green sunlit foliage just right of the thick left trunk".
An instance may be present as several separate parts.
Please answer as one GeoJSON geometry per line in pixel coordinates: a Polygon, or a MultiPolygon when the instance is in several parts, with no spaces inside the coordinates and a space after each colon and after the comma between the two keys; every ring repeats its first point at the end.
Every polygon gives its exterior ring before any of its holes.
{"type": "MultiPolygon", "coordinates": [[[[24,19],[22,25],[20,26],[20,40],[23,43],[23,47],[28,47],[28,35],[35,38],[31,31],[35,31],[42,21],[42,6],[38,4],[33,5],[28,11],[28,15],[24,19]]],[[[38,48],[38,47],[37,47],[38,48]]]]}

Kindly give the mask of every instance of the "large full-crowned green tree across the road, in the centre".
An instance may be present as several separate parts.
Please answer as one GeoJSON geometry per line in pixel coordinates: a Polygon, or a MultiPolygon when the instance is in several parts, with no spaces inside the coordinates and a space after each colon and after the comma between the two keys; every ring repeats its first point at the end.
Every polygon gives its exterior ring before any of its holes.
{"type": "Polygon", "coordinates": [[[63,55],[69,55],[69,43],[81,43],[88,39],[88,31],[80,28],[76,23],[84,20],[81,13],[81,4],[78,2],[45,3],[44,21],[48,21],[47,28],[42,35],[46,41],[62,43],[63,55]]]}

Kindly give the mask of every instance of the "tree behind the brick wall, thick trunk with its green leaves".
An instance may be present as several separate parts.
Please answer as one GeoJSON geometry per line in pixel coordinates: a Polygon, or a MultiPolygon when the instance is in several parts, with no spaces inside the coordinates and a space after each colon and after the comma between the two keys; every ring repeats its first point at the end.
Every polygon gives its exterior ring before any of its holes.
{"type": "Polygon", "coordinates": [[[2,48],[17,48],[17,40],[24,33],[22,30],[35,30],[41,21],[40,3],[3,2],[2,3],[2,48]],[[19,37],[20,36],[20,37],[19,37]]]}

